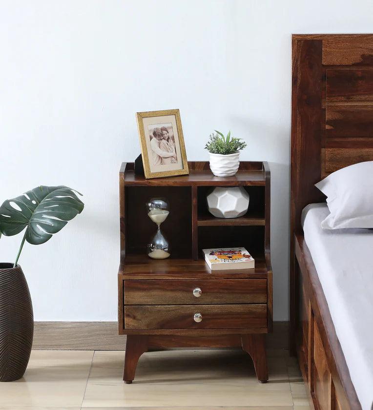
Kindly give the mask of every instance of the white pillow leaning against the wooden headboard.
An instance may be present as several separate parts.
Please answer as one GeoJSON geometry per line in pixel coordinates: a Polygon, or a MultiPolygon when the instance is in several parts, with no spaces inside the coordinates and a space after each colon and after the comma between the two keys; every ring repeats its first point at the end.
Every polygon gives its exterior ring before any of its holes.
{"type": "Polygon", "coordinates": [[[328,197],[322,228],[373,228],[373,161],[339,169],[315,186],[328,197]]]}

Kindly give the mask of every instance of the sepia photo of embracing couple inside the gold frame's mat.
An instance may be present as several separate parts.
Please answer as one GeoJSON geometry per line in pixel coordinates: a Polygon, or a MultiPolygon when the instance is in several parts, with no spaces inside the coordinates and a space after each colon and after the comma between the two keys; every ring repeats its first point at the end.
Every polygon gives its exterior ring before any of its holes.
{"type": "Polygon", "coordinates": [[[177,164],[175,137],[171,123],[148,125],[153,165],[177,164]]]}

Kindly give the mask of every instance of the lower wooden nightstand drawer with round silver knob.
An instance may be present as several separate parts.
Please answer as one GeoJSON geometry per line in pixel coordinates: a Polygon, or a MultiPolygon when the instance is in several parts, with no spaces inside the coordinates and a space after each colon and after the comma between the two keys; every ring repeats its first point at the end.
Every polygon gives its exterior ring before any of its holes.
{"type": "Polygon", "coordinates": [[[124,328],[126,329],[266,327],[266,304],[124,306],[124,328]]]}

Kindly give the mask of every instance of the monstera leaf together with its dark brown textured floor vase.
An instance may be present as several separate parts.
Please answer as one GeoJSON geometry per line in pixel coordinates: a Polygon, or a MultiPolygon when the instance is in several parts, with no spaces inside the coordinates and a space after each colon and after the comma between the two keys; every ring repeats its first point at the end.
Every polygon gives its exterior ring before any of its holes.
{"type": "Polygon", "coordinates": [[[62,185],[38,186],[0,206],[0,236],[16,235],[26,228],[14,263],[0,263],[1,382],[23,376],[34,335],[30,292],[18,265],[22,247],[25,241],[32,245],[48,241],[83,207],[76,191],[62,185]]]}

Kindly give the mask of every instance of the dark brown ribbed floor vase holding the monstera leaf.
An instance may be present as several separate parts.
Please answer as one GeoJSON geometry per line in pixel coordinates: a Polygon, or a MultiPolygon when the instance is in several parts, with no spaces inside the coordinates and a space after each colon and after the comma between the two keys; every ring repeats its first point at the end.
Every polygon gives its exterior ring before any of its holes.
{"type": "Polygon", "coordinates": [[[23,376],[33,336],[31,296],[21,266],[0,263],[0,382],[23,376]]]}

